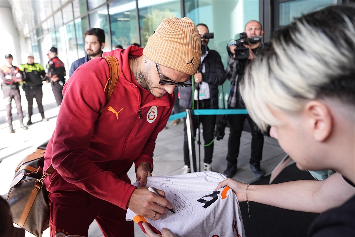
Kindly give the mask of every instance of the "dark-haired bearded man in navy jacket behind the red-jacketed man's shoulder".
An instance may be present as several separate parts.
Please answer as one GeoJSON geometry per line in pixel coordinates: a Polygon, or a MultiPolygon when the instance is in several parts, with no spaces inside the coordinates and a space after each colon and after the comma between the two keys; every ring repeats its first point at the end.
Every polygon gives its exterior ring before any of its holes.
{"type": "Polygon", "coordinates": [[[69,70],[69,77],[83,63],[102,56],[105,47],[105,32],[100,28],[91,28],[84,33],[86,56],[74,61],[69,70]]]}

